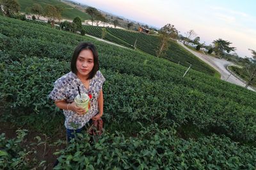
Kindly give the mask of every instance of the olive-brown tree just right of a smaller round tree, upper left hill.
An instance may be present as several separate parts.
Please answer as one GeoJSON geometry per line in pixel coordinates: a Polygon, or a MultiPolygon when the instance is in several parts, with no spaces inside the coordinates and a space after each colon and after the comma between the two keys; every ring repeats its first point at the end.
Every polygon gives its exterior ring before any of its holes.
{"type": "Polygon", "coordinates": [[[52,27],[54,27],[54,22],[56,19],[60,20],[61,18],[61,8],[59,8],[58,6],[52,6],[50,4],[48,4],[45,7],[45,13],[44,16],[49,18],[49,21],[52,24],[52,27]]]}

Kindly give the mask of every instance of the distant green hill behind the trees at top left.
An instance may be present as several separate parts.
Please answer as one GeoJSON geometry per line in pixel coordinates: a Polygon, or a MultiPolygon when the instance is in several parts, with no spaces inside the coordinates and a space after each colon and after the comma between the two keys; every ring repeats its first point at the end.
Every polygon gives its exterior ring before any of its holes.
{"type": "Polygon", "coordinates": [[[80,10],[77,10],[76,8],[73,8],[72,6],[68,6],[67,4],[62,3],[61,1],[57,1],[57,0],[44,0],[44,1],[40,1],[40,0],[18,0],[18,2],[20,4],[20,10],[21,11],[25,11],[25,9],[27,7],[33,6],[34,3],[41,4],[43,8],[45,8],[45,6],[47,4],[51,4],[51,5],[58,5],[58,6],[63,7],[64,10],[61,13],[61,17],[63,17],[63,18],[73,20],[75,17],[79,16],[79,17],[82,18],[82,20],[90,19],[90,16],[87,13],[82,12],[80,10]]]}

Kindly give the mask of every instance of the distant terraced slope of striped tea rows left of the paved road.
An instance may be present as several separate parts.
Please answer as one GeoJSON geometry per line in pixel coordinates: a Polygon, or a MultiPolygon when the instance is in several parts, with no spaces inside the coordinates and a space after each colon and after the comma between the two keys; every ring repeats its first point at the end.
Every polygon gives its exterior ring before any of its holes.
{"type": "MultiPolygon", "coordinates": [[[[101,38],[102,27],[90,25],[84,25],[83,27],[87,34],[101,38]]],[[[132,49],[134,49],[135,45],[136,50],[141,50],[142,52],[156,56],[157,46],[159,46],[159,39],[157,36],[108,27],[106,30],[107,34],[104,39],[132,49]]],[[[189,65],[192,64],[192,69],[210,74],[212,76],[218,75],[217,71],[215,71],[211,66],[205,64],[205,62],[202,62],[202,60],[188,52],[175,41],[171,41],[169,46],[170,47],[168,48],[167,52],[164,54],[165,59],[171,60],[177,64],[179,63],[186,67],[189,67],[189,65]]]]}

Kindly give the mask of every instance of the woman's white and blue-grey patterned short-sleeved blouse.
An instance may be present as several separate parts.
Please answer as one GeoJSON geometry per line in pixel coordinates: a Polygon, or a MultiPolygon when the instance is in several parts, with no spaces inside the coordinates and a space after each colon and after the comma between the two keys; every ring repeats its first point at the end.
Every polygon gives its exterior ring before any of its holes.
{"type": "Polygon", "coordinates": [[[90,80],[89,89],[87,90],[82,81],[71,71],[54,82],[54,89],[49,94],[49,98],[54,101],[74,102],[74,98],[79,94],[77,86],[81,93],[92,94],[90,99],[90,109],[84,115],[78,115],[71,110],[63,110],[65,115],[65,127],[67,129],[79,129],[83,127],[89,120],[99,112],[98,97],[105,81],[104,76],[100,71],[97,71],[95,76],[90,80]]]}

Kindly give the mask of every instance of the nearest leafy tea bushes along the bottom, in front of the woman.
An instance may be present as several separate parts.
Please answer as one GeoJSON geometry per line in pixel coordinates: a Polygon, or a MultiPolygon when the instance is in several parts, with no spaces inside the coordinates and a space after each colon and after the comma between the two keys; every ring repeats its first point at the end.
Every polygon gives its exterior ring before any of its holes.
{"type": "Polygon", "coordinates": [[[77,136],[82,137],[77,143],[73,139],[54,153],[60,155],[54,169],[255,169],[255,148],[239,146],[225,136],[184,140],[172,127],[157,125],[141,130],[138,137],[106,132],[94,145],[88,134],[77,136]]]}

